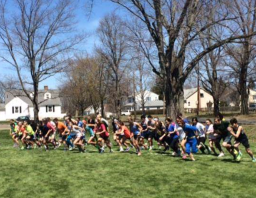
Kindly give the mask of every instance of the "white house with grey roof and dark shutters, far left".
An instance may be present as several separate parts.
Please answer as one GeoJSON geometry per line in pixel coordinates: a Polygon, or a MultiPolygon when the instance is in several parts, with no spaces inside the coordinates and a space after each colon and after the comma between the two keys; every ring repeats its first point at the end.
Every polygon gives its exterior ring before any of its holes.
{"type": "MultiPolygon", "coordinates": [[[[33,97],[33,93],[30,93],[33,97]]],[[[61,113],[61,101],[58,90],[49,90],[48,86],[44,90],[38,91],[39,119],[63,118],[61,113]]],[[[5,118],[4,120],[16,119],[19,116],[34,117],[34,108],[31,100],[25,96],[21,90],[8,90],[5,92],[5,118]]],[[[1,118],[2,119],[2,118],[1,118]]]]}

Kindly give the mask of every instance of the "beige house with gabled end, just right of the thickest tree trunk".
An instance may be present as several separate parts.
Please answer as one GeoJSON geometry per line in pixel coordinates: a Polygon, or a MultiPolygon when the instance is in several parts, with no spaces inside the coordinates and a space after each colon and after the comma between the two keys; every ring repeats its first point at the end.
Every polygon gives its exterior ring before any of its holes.
{"type": "MultiPolygon", "coordinates": [[[[207,103],[213,104],[213,97],[203,88],[200,88],[200,108],[207,109],[207,103]]],[[[198,104],[197,88],[184,90],[184,108],[189,111],[196,109],[198,104]]],[[[213,107],[213,105],[212,105],[213,107]]]]}

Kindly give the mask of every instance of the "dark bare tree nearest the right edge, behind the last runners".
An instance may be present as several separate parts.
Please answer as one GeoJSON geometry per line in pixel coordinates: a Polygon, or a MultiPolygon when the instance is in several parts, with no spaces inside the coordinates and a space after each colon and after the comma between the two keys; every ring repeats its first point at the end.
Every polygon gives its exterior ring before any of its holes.
{"type": "Polygon", "coordinates": [[[226,45],[226,53],[233,59],[229,66],[241,97],[241,114],[245,115],[249,113],[247,84],[251,73],[255,75],[253,60],[256,58],[256,42],[248,35],[256,31],[256,0],[233,0],[232,14],[239,17],[233,20],[230,31],[240,33],[244,38],[238,44],[226,45]]]}

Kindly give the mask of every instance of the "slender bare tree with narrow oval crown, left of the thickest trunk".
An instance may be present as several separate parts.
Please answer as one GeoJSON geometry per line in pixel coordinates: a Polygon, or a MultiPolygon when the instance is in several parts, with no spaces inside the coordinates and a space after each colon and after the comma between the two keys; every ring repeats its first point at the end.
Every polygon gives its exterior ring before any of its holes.
{"type": "Polygon", "coordinates": [[[128,48],[125,23],[123,20],[111,13],[100,21],[98,28],[100,47],[97,52],[107,64],[110,79],[113,82],[113,99],[115,103],[115,113],[118,118],[122,110],[121,81],[128,70],[125,52],[128,48]]]}

